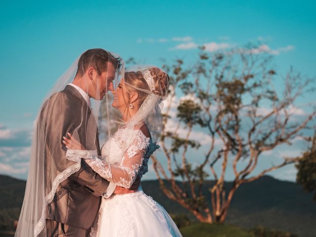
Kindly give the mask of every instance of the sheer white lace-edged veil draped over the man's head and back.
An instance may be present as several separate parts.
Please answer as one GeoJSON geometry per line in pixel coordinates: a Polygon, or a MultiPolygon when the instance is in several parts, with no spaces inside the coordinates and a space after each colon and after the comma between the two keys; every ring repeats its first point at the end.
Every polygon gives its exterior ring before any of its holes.
{"type": "MultiPolygon", "coordinates": [[[[106,67],[106,64],[102,64],[102,62],[115,62],[117,70],[114,84],[116,84],[116,81],[119,80],[118,78],[124,74],[124,67],[120,67],[123,61],[119,56],[103,49],[93,49],[92,51],[93,54],[87,50],[84,53],[85,58],[83,58],[84,60],[89,60],[89,65],[94,67],[98,74],[105,70],[104,67],[106,67]]],[[[47,204],[56,196],[57,186],[80,169],[80,160],[66,160],[65,154],[67,149],[63,146],[62,136],[54,137],[53,134],[60,129],[58,124],[62,121],[61,119],[66,119],[61,113],[65,108],[61,107],[65,106],[68,111],[72,109],[67,108],[67,103],[60,103],[61,95],[64,88],[73,82],[76,75],[85,71],[85,68],[78,68],[78,65],[84,65],[80,62],[82,55],[57,80],[52,90],[43,100],[37,115],[32,138],[26,191],[15,237],[46,237],[45,219],[47,204]],[[56,152],[57,150],[58,152],[56,152]],[[58,163],[52,159],[47,159],[48,156],[64,156],[64,159],[61,159],[62,161],[58,163]]],[[[89,79],[84,77],[82,74],[82,78],[86,80],[87,85],[89,79]]],[[[95,86],[95,90],[97,91],[96,96],[101,98],[102,96],[98,92],[100,84],[96,84],[95,86]]],[[[89,93],[88,87],[86,90],[89,93]]],[[[103,100],[108,100],[107,94],[103,100]]],[[[67,131],[71,132],[89,150],[97,150],[97,118],[100,113],[101,101],[94,101],[92,103],[92,116],[90,116],[91,110],[87,109],[88,105],[86,103],[79,104],[78,106],[81,114],[79,118],[76,118],[77,122],[68,127],[67,131]]],[[[69,114],[69,116],[72,115],[69,114]]],[[[66,135],[67,131],[61,131],[61,134],[66,135]]]]}

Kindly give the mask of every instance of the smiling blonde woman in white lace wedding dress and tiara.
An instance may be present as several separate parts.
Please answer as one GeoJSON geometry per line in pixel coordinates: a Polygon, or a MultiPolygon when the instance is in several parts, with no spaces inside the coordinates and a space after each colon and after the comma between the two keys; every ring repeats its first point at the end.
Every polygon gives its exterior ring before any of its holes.
{"type": "MultiPolygon", "coordinates": [[[[155,140],[161,130],[160,104],[167,96],[168,85],[168,75],[157,67],[126,71],[113,91],[112,106],[119,117],[107,108],[108,134],[118,129],[103,145],[101,157],[97,151],[86,151],[70,133],[68,138],[63,137],[66,156],[84,158],[100,176],[129,188],[137,176],[148,171],[148,160],[159,148],[155,140]]],[[[140,187],[135,193],[102,198],[90,236],[178,237],[181,233],[164,208],[140,187]]]]}

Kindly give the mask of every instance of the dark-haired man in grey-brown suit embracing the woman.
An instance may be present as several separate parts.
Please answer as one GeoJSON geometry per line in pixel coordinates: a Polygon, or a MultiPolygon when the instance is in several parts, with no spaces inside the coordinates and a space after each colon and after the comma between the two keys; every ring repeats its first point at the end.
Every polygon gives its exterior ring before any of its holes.
{"type": "MultiPolygon", "coordinates": [[[[77,132],[80,142],[85,146],[89,146],[88,143],[92,140],[92,145],[100,155],[96,121],[91,116],[90,98],[102,100],[109,90],[114,89],[113,80],[119,66],[120,58],[109,52],[103,49],[87,50],[79,58],[78,71],[73,82],[44,104],[40,118],[45,119],[47,131],[46,194],[53,186],[52,178],[47,177],[51,170],[56,169],[58,174],[75,164],[75,161],[66,158],[67,149],[62,143],[63,135],[67,132],[77,132]],[[88,139],[88,133],[92,134],[93,139],[88,139]]],[[[80,162],[79,171],[58,185],[53,200],[47,205],[47,237],[86,237],[98,214],[102,196],[110,197],[113,192],[126,194],[138,189],[139,179],[127,190],[101,178],[83,159],[80,162]]]]}

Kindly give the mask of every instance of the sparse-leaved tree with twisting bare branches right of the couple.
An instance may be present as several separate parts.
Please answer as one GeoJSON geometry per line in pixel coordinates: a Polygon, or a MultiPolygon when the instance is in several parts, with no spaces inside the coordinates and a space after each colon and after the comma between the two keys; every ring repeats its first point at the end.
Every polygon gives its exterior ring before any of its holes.
{"type": "Polygon", "coordinates": [[[160,139],[164,156],[152,157],[153,165],[163,193],[200,222],[224,222],[241,184],[299,159],[283,158],[255,173],[259,158],[265,158],[262,153],[291,145],[298,138],[309,139],[303,136],[305,129],[315,128],[313,105],[305,105],[308,114],[299,118],[295,114],[297,98],[312,91],[314,80],[293,69],[282,78],[271,64],[271,55],[249,46],[215,54],[201,48],[191,67],[182,60],[164,65],[171,79],[160,139]],[[209,142],[203,146],[205,154],[198,153],[198,164],[193,165],[188,153],[200,148],[192,137],[197,130],[208,134],[209,142]],[[226,192],[228,169],[235,178],[226,192]],[[207,200],[202,187],[210,175],[215,182],[207,200]]]}

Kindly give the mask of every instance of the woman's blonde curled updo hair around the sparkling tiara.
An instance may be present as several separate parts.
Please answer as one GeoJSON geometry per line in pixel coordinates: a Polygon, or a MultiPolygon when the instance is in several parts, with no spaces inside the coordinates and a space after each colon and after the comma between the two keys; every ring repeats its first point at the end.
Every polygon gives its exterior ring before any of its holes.
{"type": "MultiPolygon", "coordinates": [[[[152,91],[154,94],[161,96],[161,100],[164,100],[168,94],[168,88],[169,88],[168,74],[166,74],[161,69],[156,68],[156,67],[149,68],[148,71],[150,72],[152,78],[154,79],[155,90],[150,89],[142,72],[137,71],[137,72],[125,73],[124,81],[126,82],[127,93],[136,92],[138,94],[139,96],[138,105],[143,104],[144,100],[149,94],[142,90],[137,90],[135,88],[152,91]]],[[[129,104],[129,101],[127,104],[129,104]]]]}

